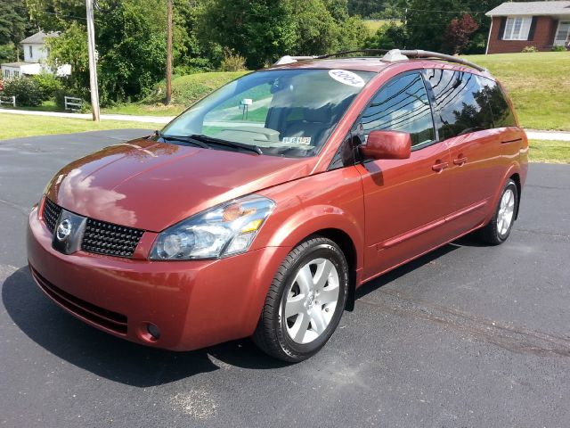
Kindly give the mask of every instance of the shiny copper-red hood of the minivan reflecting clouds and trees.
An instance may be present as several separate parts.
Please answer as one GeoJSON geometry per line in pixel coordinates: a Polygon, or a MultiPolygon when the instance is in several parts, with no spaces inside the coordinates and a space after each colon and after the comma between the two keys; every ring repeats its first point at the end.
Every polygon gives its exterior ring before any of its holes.
{"type": "Polygon", "coordinates": [[[305,177],[310,163],[138,139],[70,163],[47,197],[85,217],[159,232],[218,203],[305,177]]]}

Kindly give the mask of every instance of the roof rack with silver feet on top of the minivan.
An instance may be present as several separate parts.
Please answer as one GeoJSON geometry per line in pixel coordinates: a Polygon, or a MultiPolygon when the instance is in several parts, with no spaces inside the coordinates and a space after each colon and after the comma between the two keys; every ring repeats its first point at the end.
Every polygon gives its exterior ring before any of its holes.
{"type": "Polygon", "coordinates": [[[444,60],[447,62],[456,62],[458,64],[463,64],[479,71],[487,71],[485,67],[481,67],[474,62],[463,60],[458,56],[447,55],[445,53],[438,53],[432,51],[422,51],[421,49],[355,49],[353,51],[341,51],[336,53],[327,53],[326,55],[310,55],[310,56],[281,56],[278,62],[274,65],[284,65],[290,64],[292,62],[304,61],[304,60],[324,60],[326,58],[331,58],[333,56],[346,55],[347,53],[375,53],[384,55],[381,61],[385,62],[395,62],[395,61],[405,61],[410,58],[425,58],[425,59],[436,59],[444,60]]]}

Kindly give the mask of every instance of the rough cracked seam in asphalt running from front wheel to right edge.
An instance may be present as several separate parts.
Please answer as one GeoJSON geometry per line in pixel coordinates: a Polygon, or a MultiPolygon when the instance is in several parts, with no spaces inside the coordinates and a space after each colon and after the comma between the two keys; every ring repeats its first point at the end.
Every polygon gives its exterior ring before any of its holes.
{"type": "Polygon", "coordinates": [[[400,317],[422,319],[444,326],[477,340],[492,343],[517,354],[540,357],[570,357],[570,337],[529,330],[525,327],[501,324],[485,317],[447,308],[401,292],[380,290],[382,301],[358,299],[357,304],[379,309],[400,317]]]}

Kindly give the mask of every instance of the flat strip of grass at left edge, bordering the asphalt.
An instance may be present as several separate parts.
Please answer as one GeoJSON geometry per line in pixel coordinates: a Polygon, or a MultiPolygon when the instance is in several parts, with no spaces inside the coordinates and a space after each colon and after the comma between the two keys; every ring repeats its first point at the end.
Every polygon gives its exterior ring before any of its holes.
{"type": "Polygon", "coordinates": [[[0,112],[0,140],[21,136],[46,136],[73,132],[100,131],[104,129],[145,128],[160,129],[164,124],[102,120],[95,123],[87,119],[52,118],[46,116],[22,116],[0,112]]]}

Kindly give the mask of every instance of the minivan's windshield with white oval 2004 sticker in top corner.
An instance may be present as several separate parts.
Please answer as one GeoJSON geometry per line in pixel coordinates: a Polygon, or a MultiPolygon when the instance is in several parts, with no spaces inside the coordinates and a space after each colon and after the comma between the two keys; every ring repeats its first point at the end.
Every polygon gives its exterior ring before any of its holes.
{"type": "Polygon", "coordinates": [[[180,140],[172,137],[194,137],[224,150],[247,144],[263,154],[312,156],[373,75],[348,70],[257,71],[194,104],[161,136],[173,143],[180,140]]]}

